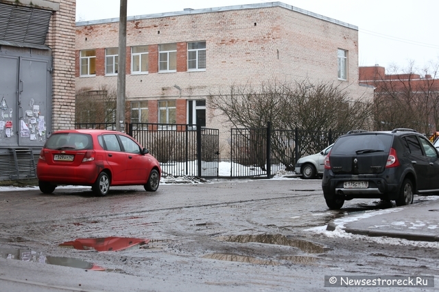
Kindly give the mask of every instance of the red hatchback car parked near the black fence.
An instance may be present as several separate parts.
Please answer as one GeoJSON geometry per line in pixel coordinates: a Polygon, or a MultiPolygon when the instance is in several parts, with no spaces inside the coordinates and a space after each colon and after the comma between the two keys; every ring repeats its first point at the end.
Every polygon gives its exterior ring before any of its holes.
{"type": "Polygon", "coordinates": [[[156,191],[158,161],[129,135],[107,130],[65,130],[50,135],[36,167],[40,191],[57,185],[90,185],[99,196],[110,185],[143,185],[156,191]]]}

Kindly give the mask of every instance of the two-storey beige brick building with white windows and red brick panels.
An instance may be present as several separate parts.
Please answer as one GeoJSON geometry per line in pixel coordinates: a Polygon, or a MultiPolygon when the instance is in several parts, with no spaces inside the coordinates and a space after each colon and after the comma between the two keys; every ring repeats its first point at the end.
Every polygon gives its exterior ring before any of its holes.
{"type": "MultiPolygon", "coordinates": [[[[117,88],[119,18],[76,23],[76,90],[117,88]]],[[[330,82],[351,98],[358,81],[358,29],[281,2],[128,17],[128,121],[230,125],[208,96],[231,85],[330,82]],[[206,102],[207,101],[207,102],[206,102]]]]}

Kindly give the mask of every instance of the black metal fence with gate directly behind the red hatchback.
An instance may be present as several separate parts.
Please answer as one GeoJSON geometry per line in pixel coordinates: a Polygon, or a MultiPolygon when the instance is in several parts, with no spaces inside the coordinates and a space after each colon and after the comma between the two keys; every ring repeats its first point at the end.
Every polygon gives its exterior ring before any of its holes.
{"type": "MultiPolygon", "coordinates": [[[[115,130],[114,123],[75,124],[76,129],[115,130]]],[[[163,176],[218,176],[219,130],[194,124],[127,123],[126,133],[160,162],[163,176]]]]}

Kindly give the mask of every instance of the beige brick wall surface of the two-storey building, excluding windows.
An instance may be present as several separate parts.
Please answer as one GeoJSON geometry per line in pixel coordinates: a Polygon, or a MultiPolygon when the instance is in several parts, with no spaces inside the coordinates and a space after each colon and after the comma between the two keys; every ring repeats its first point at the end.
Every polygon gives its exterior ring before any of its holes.
{"type": "MultiPolygon", "coordinates": [[[[230,85],[257,86],[267,81],[304,79],[333,82],[340,88],[346,88],[351,98],[364,95],[372,98],[372,89],[358,85],[357,28],[296,12],[286,6],[217,12],[207,10],[203,13],[129,20],[127,47],[205,40],[206,70],[147,75],[130,75],[128,70],[126,98],[206,98],[209,94],[227,92],[230,85]],[[337,80],[339,48],[348,51],[347,81],[337,80]],[[181,96],[174,85],[182,89],[181,96]]],[[[118,31],[118,22],[78,23],[76,50],[117,47],[118,31]]],[[[77,90],[98,89],[102,85],[116,88],[117,77],[76,78],[77,90]]],[[[225,121],[224,116],[207,104],[206,127],[220,129],[223,144],[227,144],[230,137],[230,125],[225,121]]]]}

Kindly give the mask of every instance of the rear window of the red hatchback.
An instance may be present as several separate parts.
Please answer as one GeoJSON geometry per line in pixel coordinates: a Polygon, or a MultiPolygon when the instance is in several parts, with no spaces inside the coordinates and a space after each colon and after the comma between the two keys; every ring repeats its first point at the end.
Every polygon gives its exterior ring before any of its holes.
{"type": "Polygon", "coordinates": [[[91,135],[80,133],[59,133],[49,137],[45,144],[48,149],[88,150],[93,149],[91,135]]]}

